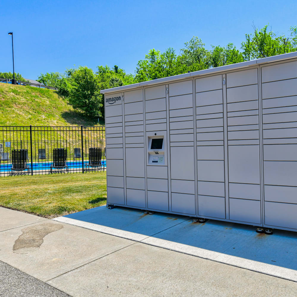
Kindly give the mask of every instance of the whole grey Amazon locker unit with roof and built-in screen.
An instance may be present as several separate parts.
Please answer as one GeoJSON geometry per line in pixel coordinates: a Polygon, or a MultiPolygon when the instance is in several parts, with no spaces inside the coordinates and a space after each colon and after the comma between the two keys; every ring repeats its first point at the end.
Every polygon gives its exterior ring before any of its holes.
{"type": "Polygon", "coordinates": [[[297,52],[101,93],[108,204],[297,230],[297,52]]]}

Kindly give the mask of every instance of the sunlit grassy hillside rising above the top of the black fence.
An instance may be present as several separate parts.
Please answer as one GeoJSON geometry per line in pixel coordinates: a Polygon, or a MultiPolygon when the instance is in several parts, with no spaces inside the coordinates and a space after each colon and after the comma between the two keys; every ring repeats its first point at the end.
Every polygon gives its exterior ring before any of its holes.
{"type": "Polygon", "coordinates": [[[57,91],[0,83],[0,126],[102,126],[73,110],[57,91]]]}

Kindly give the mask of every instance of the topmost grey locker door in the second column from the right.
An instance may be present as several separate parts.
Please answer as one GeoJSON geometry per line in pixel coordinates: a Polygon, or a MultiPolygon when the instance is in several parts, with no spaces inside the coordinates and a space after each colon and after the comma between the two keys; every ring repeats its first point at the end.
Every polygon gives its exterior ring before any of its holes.
{"type": "Polygon", "coordinates": [[[227,88],[247,86],[258,83],[258,69],[248,69],[227,73],[227,88]]]}

